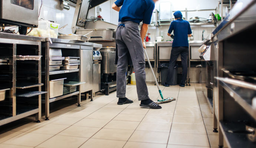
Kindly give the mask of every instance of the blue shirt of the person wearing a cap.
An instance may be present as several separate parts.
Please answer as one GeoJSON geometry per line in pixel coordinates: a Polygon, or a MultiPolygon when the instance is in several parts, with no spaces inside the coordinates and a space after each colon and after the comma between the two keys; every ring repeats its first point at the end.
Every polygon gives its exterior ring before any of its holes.
{"type": "Polygon", "coordinates": [[[188,21],[178,19],[171,22],[168,33],[174,33],[173,47],[188,47],[188,34],[192,34],[188,21]]]}

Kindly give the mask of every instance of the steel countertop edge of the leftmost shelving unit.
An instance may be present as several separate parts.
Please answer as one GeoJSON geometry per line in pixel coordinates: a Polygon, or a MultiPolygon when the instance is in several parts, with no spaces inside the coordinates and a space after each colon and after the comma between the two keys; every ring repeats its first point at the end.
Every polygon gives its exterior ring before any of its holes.
{"type": "Polygon", "coordinates": [[[45,41],[44,37],[25,36],[20,34],[0,33],[0,38],[12,38],[18,40],[45,41]]]}

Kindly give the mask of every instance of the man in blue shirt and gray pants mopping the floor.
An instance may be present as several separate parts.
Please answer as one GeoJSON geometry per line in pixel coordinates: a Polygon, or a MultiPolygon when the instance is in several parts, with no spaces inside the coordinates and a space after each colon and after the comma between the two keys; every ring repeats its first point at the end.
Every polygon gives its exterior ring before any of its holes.
{"type": "Polygon", "coordinates": [[[117,0],[112,9],[119,12],[119,23],[116,29],[116,97],[118,105],[132,103],[125,97],[126,72],[132,61],[135,72],[138,100],[141,107],[160,109],[148,96],[146,84],[144,38],[150,24],[151,16],[158,0],[117,0]],[[122,7],[121,7],[122,6],[122,7]],[[139,24],[142,21],[141,31],[139,24]],[[130,61],[131,60],[131,61],[130,61]]]}

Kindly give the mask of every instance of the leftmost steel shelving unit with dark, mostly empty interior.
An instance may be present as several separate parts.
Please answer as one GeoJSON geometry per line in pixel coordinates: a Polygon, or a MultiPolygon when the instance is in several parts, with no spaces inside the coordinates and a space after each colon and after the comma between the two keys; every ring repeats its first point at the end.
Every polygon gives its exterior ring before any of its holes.
{"type": "Polygon", "coordinates": [[[16,56],[40,57],[41,41],[44,40],[40,37],[0,33],[1,56],[9,58],[7,65],[0,65],[0,87],[10,89],[6,92],[5,100],[0,101],[0,125],[33,114],[36,114],[36,120],[40,122],[40,94],[47,93],[41,91],[41,60],[18,61],[16,56]]]}

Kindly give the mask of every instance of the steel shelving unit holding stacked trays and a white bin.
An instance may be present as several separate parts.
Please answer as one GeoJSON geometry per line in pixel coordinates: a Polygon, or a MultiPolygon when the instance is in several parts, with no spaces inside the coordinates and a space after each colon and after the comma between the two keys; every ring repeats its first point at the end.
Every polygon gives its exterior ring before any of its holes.
{"type": "MultiPolygon", "coordinates": [[[[81,46],[93,46],[93,43],[87,42],[80,42],[80,41],[72,41],[72,40],[63,40],[58,38],[51,38],[52,44],[50,43],[50,39],[46,38],[46,41],[43,42],[43,60],[45,61],[43,64],[45,65],[45,90],[49,92],[45,95],[45,98],[42,100],[42,103],[45,104],[45,118],[49,120],[50,117],[50,103],[54,101],[61,100],[63,98],[71,97],[73,95],[77,95],[78,98],[78,106],[81,104],[81,85],[77,85],[78,89],[75,92],[60,95],[58,97],[50,98],[50,88],[49,88],[49,81],[55,80],[59,78],[67,78],[67,81],[77,81],[78,83],[81,82],[81,71],[80,65],[78,69],[74,70],[59,70],[59,71],[49,71],[49,49],[50,48],[61,48],[62,50],[62,57],[81,57],[81,46]]],[[[92,56],[92,55],[91,55],[92,56]]],[[[86,82],[85,82],[86,83],[86,82]]],[[[92,99],[92,96],[91,96],[92,99]]]]}

